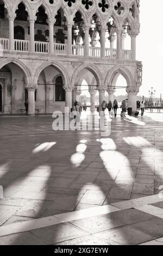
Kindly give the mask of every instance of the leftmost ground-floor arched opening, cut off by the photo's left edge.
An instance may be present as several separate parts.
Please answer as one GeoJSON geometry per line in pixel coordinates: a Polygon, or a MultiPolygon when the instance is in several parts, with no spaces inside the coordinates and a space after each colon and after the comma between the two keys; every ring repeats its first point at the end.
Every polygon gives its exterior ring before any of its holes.
{"type": "Polygon", "coordinates": [[[0,78],[4,92],[2,109],[7,114],[20,114],[24,109],[24,87],[28,83],[26,72],[11,62],[0,69],[0,78]]]}

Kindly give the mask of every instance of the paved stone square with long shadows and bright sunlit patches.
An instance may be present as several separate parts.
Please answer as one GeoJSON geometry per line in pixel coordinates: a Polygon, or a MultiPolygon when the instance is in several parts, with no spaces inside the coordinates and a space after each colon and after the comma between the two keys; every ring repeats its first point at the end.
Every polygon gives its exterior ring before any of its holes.
{"type": "Polygon", "coordinates": [[[109,137],[53,120],[0,117],[0,245],[160,245],[163,115],[111,117],[109,137]]]}

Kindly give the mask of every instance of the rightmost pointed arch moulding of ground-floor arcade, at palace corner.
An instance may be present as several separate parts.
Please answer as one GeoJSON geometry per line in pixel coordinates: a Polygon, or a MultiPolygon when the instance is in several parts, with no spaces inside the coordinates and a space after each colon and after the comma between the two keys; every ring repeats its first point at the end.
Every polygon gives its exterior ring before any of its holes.
{"type": "Polygon", "coordinates": [[[106,79],[105,79],[105,86],[109,87],[112,83],[115,83],[115,80],[117,80],[118,75],[117,74],[121,74],[127,82],[127,86],[128,87],[132,87],[134,84],[134,79],[133,76],[131,75],[131,72],[122,65],[116,65],[114,66],[114,68],[112,68],[111,70],[109,70],[108,74],[106,75],[106,79]]]}

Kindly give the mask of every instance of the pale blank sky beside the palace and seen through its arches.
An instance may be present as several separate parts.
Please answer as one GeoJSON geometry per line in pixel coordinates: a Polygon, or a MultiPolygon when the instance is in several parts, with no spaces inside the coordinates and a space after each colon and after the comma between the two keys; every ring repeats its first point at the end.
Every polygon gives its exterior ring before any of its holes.
{"type": "MultiPolygon", "coordinates": [[[[143,81],[138,95],[149,97],[153,87],[155,96],[163,99],[163,1],[140,1],[140,34],[136,38],[136,59],[143,64],[143,81]]],[[[126,41],[129,47],[130,39],[126,41]]],[[[119,76],[116,86],[126,86],[126,80],[119,76]]],[[[86,88],[85,88],[86,89],[86,88]]],[[[115,95],[126,95],[126,89],[116,89],[115,95]]]]}

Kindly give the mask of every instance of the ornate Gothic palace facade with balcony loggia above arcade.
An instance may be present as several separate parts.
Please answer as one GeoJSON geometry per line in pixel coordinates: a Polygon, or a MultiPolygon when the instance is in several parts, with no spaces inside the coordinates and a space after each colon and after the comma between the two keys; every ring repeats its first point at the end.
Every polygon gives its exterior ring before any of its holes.
{"type": "Polygon", "coordinates": [[[113,99],[121,74],[136,110],[142,64],[136,60],[139,0],[0,0],[0,113],[72,107],[85,80],[99,104],[113,99]],[[130,50],[125,49],[130,36],[130,50]]]}

